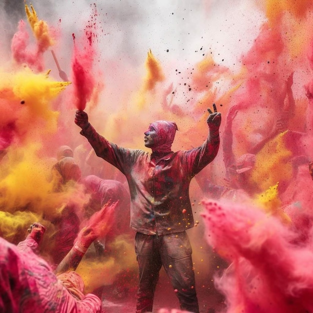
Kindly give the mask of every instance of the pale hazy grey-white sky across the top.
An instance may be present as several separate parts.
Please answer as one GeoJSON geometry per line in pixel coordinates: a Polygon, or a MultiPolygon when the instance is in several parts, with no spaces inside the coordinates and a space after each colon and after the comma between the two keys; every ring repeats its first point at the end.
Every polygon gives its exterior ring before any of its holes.
{"type": "MultiPolygon", "coordinates": [[[[23,1],[3,4],[12,25],[23,14],[23,1]],[[20,8],[20,9],[17,9],[20,8]]],[[[70,50],[71,34],[82,31],[92,9],[102,28],[98,41],[101,56],[120,57],[141,64],[151,48],[161,62],[179,60],[188,67],[213,52],[216,62],[232,65],[257,35],[264,14],[250,0],[33,0],[39,19],[59,26],[64,50],[70,50]],[[95,6],[94,6],[95,3],[95,6]]],[[[28,3],[29,4],[29,3],[28,3]]],[[[25,18],[25,16],[23,16],[25,18]]],[[[5,19],[2,19],[5,21],[5,19]]],[[[4,27],[5,28],[5,27],[4,27]]],[[[64,51],[65,52],[65,51],[64,51]]]]}

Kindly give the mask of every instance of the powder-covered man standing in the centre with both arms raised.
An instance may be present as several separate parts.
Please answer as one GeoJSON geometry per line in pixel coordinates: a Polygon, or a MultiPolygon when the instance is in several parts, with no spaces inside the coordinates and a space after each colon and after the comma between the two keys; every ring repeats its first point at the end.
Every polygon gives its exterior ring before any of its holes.
{"type": "Polygon", "coordinates": [[[97,156],[125,176],[131,198],[130,226],[136,231],[135,252],[139,287],[136,313],[152,311],[154,289],[163,265],[179,300],[180,308],[199,311],[192,269],[191,246],[186,229],[193,223],[189,199],[191,178],[211,162],[219,147],[220,113],[207,118],[209,135],[205,142],[186,151],[171,151],[177,126],[159,120],[144,132],[144,145],[152,153],[127,149],[107,141],[88,122],[88,115],[76,111],[81,128],[97,156]]]}

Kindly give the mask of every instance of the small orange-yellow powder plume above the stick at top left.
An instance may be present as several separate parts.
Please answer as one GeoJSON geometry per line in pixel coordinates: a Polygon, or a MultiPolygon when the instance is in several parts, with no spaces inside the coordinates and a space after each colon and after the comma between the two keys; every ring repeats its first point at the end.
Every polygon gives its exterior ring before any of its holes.
{"type": "Polygon", "coordinates": [[[49,35],[48,25],[45,21],[39,20],[36,11],[30,4],[31,11],[29,10],[27,4],[25,4],[25,12],[27,15],[27,20],[32,29],[32,32],[38,41],[38,45],[41,51],[47,50],[53,45],[53,39],[49,35]]]}

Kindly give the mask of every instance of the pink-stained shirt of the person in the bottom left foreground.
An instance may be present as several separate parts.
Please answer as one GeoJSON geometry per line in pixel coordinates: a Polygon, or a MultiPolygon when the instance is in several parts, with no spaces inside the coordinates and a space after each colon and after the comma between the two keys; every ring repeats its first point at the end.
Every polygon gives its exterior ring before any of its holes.
{"type": "Polygon", "coordinates": [[[91,293],[76,299],[27,238],[18,246],[0,237],[0,312],[99,313],[100,299],[91,293]]]}

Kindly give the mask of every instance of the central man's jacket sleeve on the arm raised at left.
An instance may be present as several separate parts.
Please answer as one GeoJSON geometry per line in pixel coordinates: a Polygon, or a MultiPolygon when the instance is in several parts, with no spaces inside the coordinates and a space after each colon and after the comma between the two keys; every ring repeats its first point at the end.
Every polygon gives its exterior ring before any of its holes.
{"type": "Polygon", "coordinates": [[[115,143],[109,142],[98,134],[90,124],[85,129],[82,129],[80,134],[87,138],[97,156],[103,158],[124,174],[130,169],[135,157],[131,149],[119,147],[115,143]]]}

